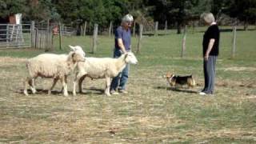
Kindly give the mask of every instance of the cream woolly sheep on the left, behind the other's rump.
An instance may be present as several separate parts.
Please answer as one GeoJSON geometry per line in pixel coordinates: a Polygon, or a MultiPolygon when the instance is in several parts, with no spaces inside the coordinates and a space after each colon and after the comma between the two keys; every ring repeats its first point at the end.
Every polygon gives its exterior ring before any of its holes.
{"type": "Polygon", "coordinates": [[[34,58],[30,58],[26,62],[26,69],[28,75],[24,81],[25,95],[28,95],[26,86],[30,85],[32,93],[36,93],[34,81],[36,78],[53,78],[53,85],[48,90],[48,94],[53,90],[58,79],[62,82],[62,89],[64,96],[68,96],[67,92],[67,76],[73,72],[78,62],[85,61],[85,52],[81,46],[70,46],[69,54],[39,54],[34,58]]]}

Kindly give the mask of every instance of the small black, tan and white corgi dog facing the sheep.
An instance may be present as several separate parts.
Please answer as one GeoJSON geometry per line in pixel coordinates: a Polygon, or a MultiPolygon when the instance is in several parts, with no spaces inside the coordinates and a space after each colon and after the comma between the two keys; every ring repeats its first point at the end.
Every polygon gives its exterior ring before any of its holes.
{"type": "Polygon", "coordinates": [[[166,81],[170,84],[170,86],[183,86],[187,85],[189,88],[192,88],[195,86],[195,81],[194,78],[191,75],[186,75],[186,76],[178,76],[175,74],[171,74],[170,72],[167,73],[165,76],[166,81]]]}

